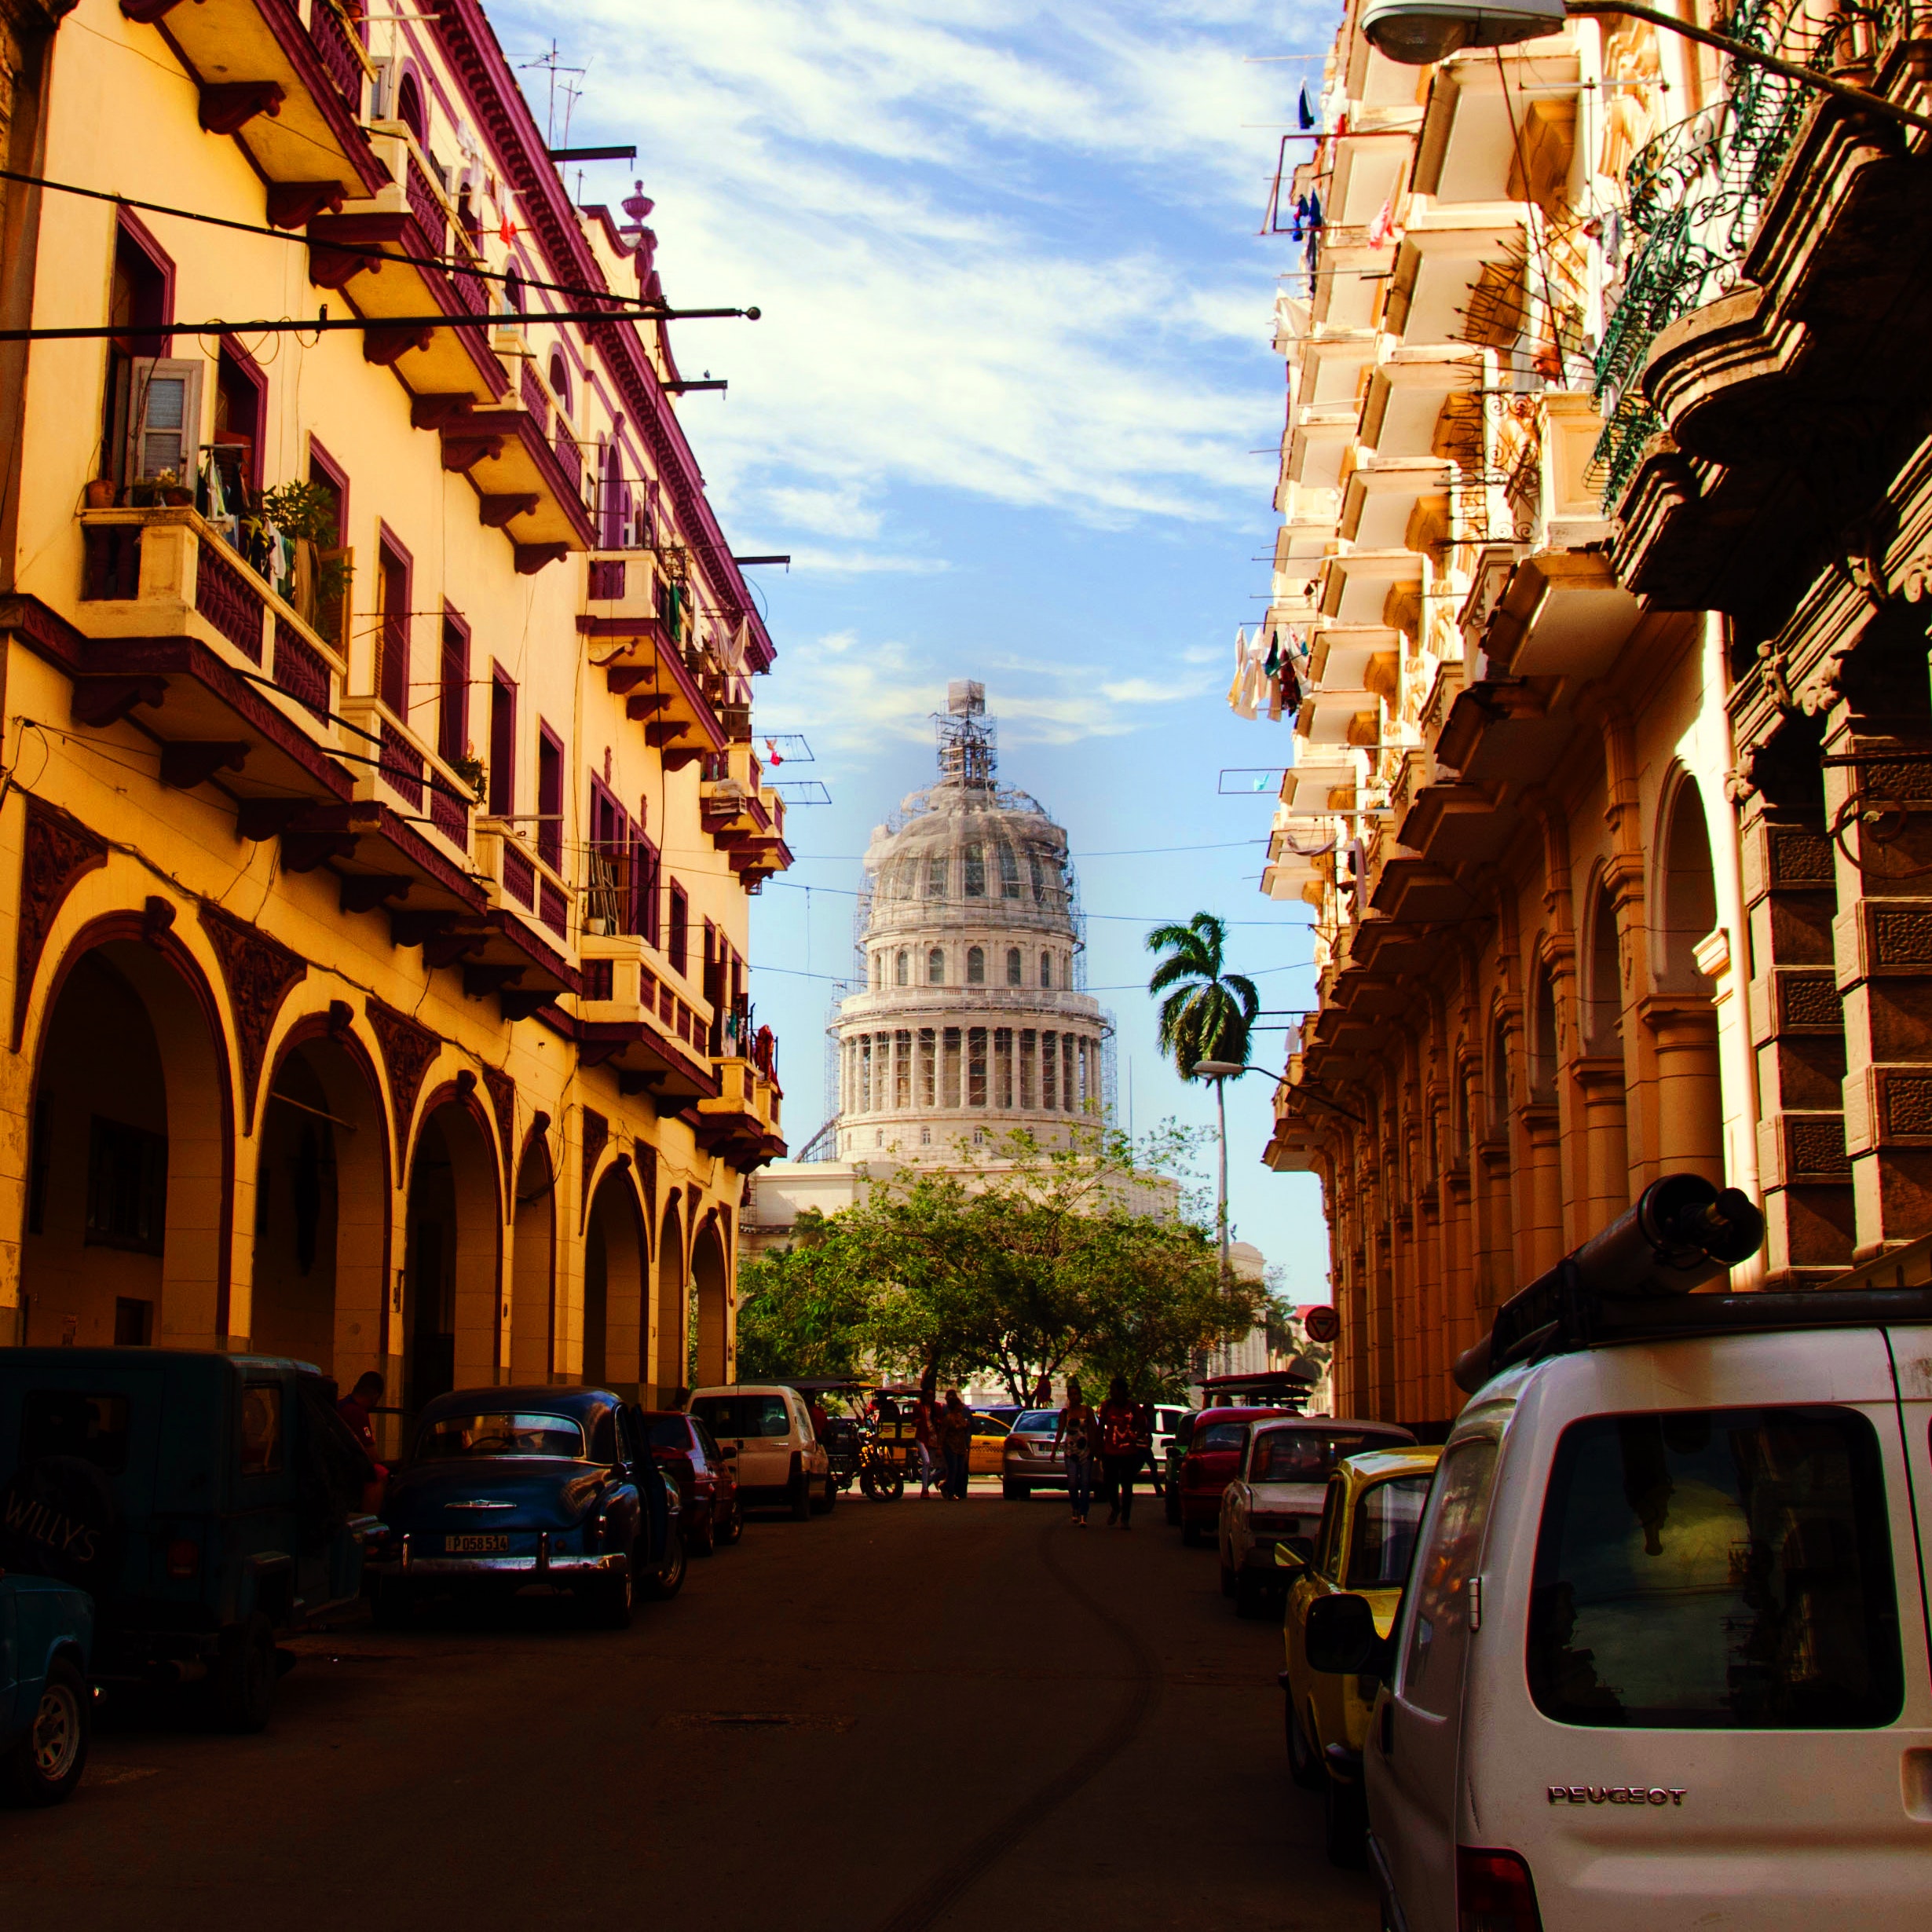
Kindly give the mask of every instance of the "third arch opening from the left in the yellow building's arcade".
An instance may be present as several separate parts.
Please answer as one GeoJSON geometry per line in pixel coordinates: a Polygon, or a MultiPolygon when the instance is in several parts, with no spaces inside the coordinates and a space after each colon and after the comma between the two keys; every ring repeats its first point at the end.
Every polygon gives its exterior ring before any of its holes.
{"type": "Polygon", "coordinates": [[[390,1294],[390,1395],[417,1410],[502,1364],[502,1182],[475,1084],[437,1088],[417,1117],[402,1279],[390,1294]]]}

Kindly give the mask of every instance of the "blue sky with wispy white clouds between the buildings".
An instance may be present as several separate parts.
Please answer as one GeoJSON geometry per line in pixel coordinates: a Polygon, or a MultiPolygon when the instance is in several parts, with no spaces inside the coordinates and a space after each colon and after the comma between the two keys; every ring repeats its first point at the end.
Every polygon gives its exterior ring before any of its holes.
{"type": "MultiPolygon", "coordinates": [[[[1333,10],[520,0],[493,19],[512,62],[554,39],[585,70],[572,145],[636,141],[580,199],[614,209],[641,178],[668,299],[763,311],[674,325],[672,348],[730,381],[682,421],[732,549],[792,556],[748,572],[779,651],[755,730],[804,734],[811,763],[777,777],[831,792],[792,810],[796,864],[752,902],[792,1146],[829,1111],[860,856],[931,782],[951,678],[985,682],[1001,781],[1068,831],[1121,1124],[1132,1094],[1138,1132],[1209,1126],[1209,1090],[1155,1047],[1146,929],[1219,912],[1264,1024],[1314,1003],[1308,910],[1258,889],[1271,800],[1221,773],[1289,757],[1287,724],[1225,692],[1277,524],[1269,330],[1293,263],[1256,230],[1333,10]]],[[[541,126],[549,75],[524,83],[541,126]]],[[[1264,1032],[1250,1057],[1281,1051],[1264,1032]]],[[[1323,1300],[1320,1190],[1260,1165],[1271,1092],[1229,1084],[1235,1236],[1323,1300]]]]}

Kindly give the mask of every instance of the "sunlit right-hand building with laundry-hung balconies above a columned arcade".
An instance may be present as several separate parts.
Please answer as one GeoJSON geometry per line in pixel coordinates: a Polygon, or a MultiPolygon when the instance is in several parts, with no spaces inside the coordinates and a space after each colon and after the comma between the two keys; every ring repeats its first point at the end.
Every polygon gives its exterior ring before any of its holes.
{"type": "MultiPolygon", "coordinates": [[[[1696,17],[1924,110],[1903,12],[1696,17]]],[[[1932,1231],[1926,137],[1644,21],[1416,68],[1349,6],[1320,93],[1231,694],[1314,912],[1265,1159],[1323,1186],[1343,1410],[1441,1426],[1663,1173],[1762,1202],[1737,1289],[1932,1231]]]]}

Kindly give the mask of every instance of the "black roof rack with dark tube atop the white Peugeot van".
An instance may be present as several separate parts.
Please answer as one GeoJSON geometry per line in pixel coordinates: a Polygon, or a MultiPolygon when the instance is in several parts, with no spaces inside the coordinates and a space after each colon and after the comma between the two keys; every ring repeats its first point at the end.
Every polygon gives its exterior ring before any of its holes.
{"type": "MultiPolygon", "coordinates": [[[[1702,1175],[1652,1180],[1636,1204],[1573,1248],[1495,1312],[1490,1333],[1455,1364],[1474,1395],[1497,1370],[1567,1349],[1636,1335],[1723,1327],[1783,1327],[1770,1302],[1808,1304],[1816,1294],[1700,1294],[1690,1291],[1735,1267],[1764,1242],[1764,1215],[1739,1188],[1702,1175]],[[1739,1304],[1731,1316],[1718,1308],[1739,1304]]],[[[1868,1316],[1864,1320],[1870,1320],[1868,1316]]]]}

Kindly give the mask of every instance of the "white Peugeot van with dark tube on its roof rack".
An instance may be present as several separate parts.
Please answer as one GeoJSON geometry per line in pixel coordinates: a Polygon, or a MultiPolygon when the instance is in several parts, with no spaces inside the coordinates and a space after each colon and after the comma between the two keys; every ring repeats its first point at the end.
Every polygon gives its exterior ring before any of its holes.
{"type": "Polygon", "coordinates": [[[1814,1293],[1660,1293],[1665,1256],[1698,1279],[1698,1213],[1756,1221],[1673,1177],[1505,1304],[1389,1638],[1360,1598],[1310,1615],[1310,1662],[1383,1677],[1391,1932],[1932,1922],[1932,1242],[1814,1293]]]}

